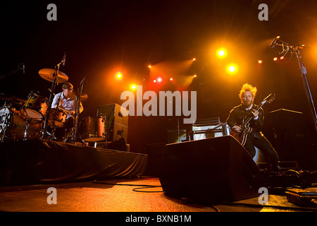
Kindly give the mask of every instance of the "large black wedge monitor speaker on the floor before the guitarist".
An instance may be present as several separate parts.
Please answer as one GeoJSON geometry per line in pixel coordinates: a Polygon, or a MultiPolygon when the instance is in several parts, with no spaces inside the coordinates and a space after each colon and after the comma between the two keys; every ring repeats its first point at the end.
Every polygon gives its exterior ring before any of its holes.
{"type": "Polygon", "coordinates": [[[166,145],[159,176],[163,191],[201,203],[259,196],[266,186],[247,150],[232,136],[166,145]]]}

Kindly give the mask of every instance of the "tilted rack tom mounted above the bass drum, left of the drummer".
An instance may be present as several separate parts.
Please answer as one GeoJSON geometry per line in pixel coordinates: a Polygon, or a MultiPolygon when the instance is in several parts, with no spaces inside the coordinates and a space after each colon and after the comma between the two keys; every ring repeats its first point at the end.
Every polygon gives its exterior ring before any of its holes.
{"type": "Polygon", "coordinates": [[[27,118],[42,120],[46,113],[48,102],[49,100],[46,97],[37,95],[32,91],[20,112],[27,118]]]}

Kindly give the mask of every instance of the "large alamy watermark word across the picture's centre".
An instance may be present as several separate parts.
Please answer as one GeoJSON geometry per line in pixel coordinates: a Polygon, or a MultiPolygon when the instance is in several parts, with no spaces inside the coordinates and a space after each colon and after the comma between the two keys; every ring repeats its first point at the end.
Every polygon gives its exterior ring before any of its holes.
{"type": "Polygon", "coordinates": [[[137,95],[132,91],[124,91],[120,96],[121,100],[126,100],[121,105],[121,114],[123,116],[173,116],[175,108],[175,116],[185,116],[184,124],[192,124],[197,119],[197,92],[191,91],[189,98],[189,91],[176,90],[159,91],[159,97],[154,91],[146,91],[143,93],[142,85],[137,85],[137,95]],[[128,100],[127,100],[128,98],[128,100]],[[159,100],[158,100],[159,98],[159,100]],[[135,100],[137,106],[135,107],[135,100]],[[147,102],[143,105],[143,100],[147,102]],[[174,102],[175,100],[175,102],[174,102]],[[190,101],[190,109],[189,109],[190,101]],[[159,107],[159,110],[158,110],[159,107]],[[127,111],[126,109],[129,108],[127,111]],[[136,111],[136,114],[135,114],[136,111]]]}

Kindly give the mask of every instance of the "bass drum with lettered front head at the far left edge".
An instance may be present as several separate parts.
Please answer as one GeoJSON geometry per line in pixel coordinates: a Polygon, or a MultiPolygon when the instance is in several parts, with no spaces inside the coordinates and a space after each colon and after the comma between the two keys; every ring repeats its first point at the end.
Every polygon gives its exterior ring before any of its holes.
{"type": "Polygon", "coordinates": [[[7,107],[0,109],[0,117],[1,140],[4,138],[4,141],[23,141],[39,138],[42,121],[27,119],[20,111],[7,107]]]}

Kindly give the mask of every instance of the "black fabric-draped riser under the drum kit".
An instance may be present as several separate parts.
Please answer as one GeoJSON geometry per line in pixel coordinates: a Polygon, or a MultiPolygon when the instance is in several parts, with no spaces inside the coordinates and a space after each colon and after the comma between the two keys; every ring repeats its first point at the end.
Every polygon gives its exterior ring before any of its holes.
{"type": "Polygon", "coordinates": [[[0,143],[0,185],[79,182],[141,176],[147,155],[70,143],[0,143]]]}

